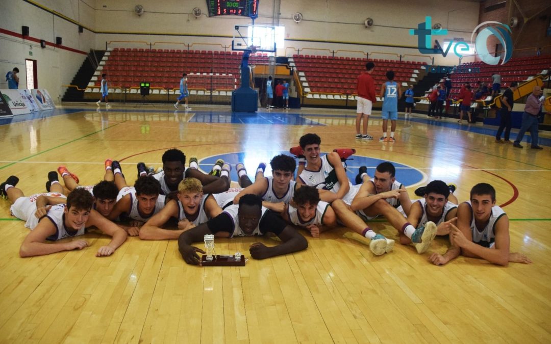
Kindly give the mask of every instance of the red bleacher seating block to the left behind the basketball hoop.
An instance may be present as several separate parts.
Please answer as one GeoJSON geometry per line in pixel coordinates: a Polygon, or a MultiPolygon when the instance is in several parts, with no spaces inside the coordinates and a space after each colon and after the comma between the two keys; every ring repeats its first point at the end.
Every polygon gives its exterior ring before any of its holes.
{"type": "MultiPolygon", "coordinates": [[[[109,75],[110,87],[131,88],[149,81],[152,87],[177,89],[182,73],[187,73],[190,89],[228,90],[240,83],[242,54],[236,51],[114,48],[104,57],[105,64],[98,74],[109,75]]],[[[249,63],[267,64],[268,55],[257,53],[249,58],[249,63]]],[[[94,86],[100,86],[101,78],[93,82],[94,86]]]]}

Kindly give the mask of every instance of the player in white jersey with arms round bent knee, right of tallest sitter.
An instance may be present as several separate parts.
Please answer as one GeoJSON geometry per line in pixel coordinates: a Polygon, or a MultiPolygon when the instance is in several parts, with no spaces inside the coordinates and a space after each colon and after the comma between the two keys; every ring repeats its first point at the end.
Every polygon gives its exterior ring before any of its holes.
{"type": "Polygon", "coordinates": [[[415,244],[422,243],[417,249],[419,253],[424,253],[436,236],[436,227],[415,228],[397,210],[399,206],[402,206],[404,212],[409,214],[411,200],[406,188],[396,182],[394,165],[390,162],[381,162],[375,168],[375,177],[371,180],[366,171],[367,167],[360,167],[358,177],[364,183],[361,184],[350,208],[364,220],[375,219],[380,215],[385,216],[385,219],[396,228],[398,233],[406,235],[415,244]]]}

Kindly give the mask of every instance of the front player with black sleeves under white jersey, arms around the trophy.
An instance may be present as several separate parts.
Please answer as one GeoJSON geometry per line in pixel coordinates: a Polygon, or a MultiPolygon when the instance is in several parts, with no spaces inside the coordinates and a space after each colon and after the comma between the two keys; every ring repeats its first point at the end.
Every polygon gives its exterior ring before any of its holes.
{"type": "Polygon", "coordinates": [[[304,250],[308,242],[293,227],[287,225],[276,213],[262,207],[260,196],[247,194],[241,197],[239,205],[231,205],[222,214],[191,230],[183,232],[178,239],[178,247],[187,264],[199,264],[201,258],[197,252],[203,250],[193,247],[194,242],[202,242],[206,234],[234,237],[262,235],[268,232],[276,234],[281,244],[267,247],[263,243],[253,243],[249,252],[254,259],[265,259],[276,255],[304,250]]]}

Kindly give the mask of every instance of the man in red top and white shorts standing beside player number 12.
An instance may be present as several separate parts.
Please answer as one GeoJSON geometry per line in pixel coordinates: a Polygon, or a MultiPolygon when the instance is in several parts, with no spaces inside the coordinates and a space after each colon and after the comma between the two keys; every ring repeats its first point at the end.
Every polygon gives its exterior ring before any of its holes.
{"type": "Polygon", "coordinates": [[[373,136],[368,135],[368,121],[373,103],[377,101],[377,97],[375,96],[375,80],[371,77],[371,72],[373,72],[374,68],[375,63],[366,63],[366,72],[358,75],[356,79],[356,93],[358,94],[358,105],[356,106],[356,139],[373,139],[373,136]],[[362,118],[364,119],[364,134],[360,134],[360,123],[362,118]]]}

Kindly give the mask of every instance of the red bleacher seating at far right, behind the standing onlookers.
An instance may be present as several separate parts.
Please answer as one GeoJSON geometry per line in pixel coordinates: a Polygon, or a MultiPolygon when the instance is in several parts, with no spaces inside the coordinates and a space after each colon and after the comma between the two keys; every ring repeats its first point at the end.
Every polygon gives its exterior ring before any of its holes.
{"type": "MultiPolygon", "coordinates": [[[[450,80],[452,90],[450,97],[457,99],[457,95],[464,83],[471,83],[471,87],[476,87],[477,81],[483,81],[491,90],[491,75],[501,75],[501,88],[508,87],[512,81],[525,81],[530,77],[541,74],[543,70],[551,68],[551,55],[511,58],[504,65],[489,65],[482,61],[467,62],[462,66],[470,68],[479,68],[479,73],[452,73],[450,80]]],[[[463,68],[464,70],[464,68],[463,68]]],[[[473,89],[474,90],[474,89],[473,89]]]]}

